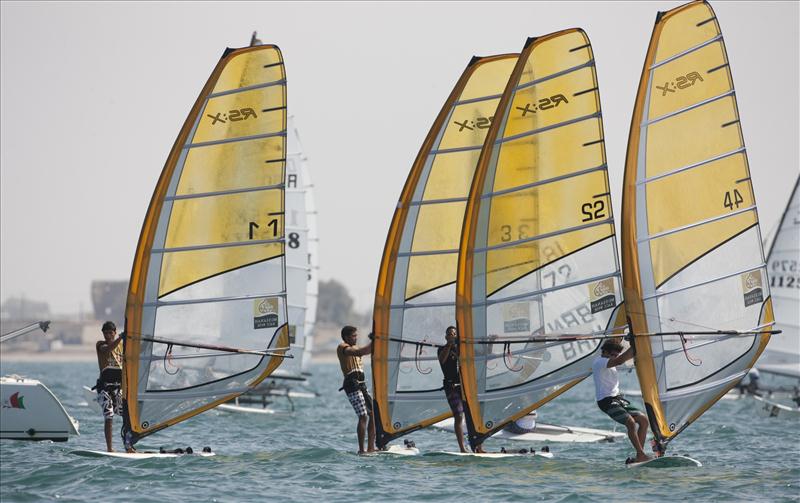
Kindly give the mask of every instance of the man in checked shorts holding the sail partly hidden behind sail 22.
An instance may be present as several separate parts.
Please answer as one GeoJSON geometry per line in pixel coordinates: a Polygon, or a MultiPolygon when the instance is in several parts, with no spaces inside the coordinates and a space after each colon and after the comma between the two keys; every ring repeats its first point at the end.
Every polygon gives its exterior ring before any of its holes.
{"type": "Polygon", "coordinates": [[[368,446],[366,452],[375,451],[375,421],[372,415],[372,397],[367,391],[365,382],[364,367],[361,364],[361,357],[372,353],[372,334],[370,343],[363,347],[356,346],[358,341],[358,329],[347,325],[342,328],[342,342],[336,348],[336,356],[339,357],[339,366],[342,368],[344,383],[339,391],[344,390],[347,399],[353,406],[358,416],[358,453],[364,454],[364,432],[368,430],[368,446]],[[369,418],[369,425],[367,424],[369,418]]]}

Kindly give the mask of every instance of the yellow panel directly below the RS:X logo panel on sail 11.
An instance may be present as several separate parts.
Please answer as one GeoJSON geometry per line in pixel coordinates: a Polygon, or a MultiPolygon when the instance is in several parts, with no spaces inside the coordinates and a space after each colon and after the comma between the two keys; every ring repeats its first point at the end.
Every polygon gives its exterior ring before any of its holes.
{"type": "Polygon", "coordinates": [[[189,150],[178,195],[202,194],[283,183],[283,137],[220,143],[189,150]]]}

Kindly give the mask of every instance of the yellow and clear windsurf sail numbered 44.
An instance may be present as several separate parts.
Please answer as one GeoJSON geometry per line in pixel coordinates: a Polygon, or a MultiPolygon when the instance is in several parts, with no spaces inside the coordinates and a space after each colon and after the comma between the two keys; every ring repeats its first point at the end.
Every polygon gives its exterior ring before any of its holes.
{"type": "Polygon", "coordinates": [[[741,380],[773,325],[731,69],[705,2],[656,17],[631,121],[622,225],[636,372],[665,446],[741,380]]]}

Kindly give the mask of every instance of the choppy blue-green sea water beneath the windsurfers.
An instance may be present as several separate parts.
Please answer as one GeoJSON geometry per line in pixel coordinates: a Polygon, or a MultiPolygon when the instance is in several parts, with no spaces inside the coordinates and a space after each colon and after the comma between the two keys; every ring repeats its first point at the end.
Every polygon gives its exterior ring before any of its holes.
{"type": "MultiPolygon", "coordinates": [[[[4,362],[3,374],[44,382],[80,421],[81,435],[66,443],[0,441],[0,500],[800,501],[800,420],[760,417],[750,400],[718,403],[671,444],[671,452],[690,454],[702,468],[626,469],[627,442],[554,443],[551,460],[363,457],[355,454],[355,416],[336,391],[338,366],[313,372],[311,387],[320,397],[295,400],[294,412],[209,411],[138,444],[209,445],[215,457],[130,461],[71,454],[104,446],[102,418],[80,391],[94,382],[94,364],[4,362]]],[[[614,426],[594,404],[590,380],[539,412],[545,422],[614,426]]],[[[451,433],[410,438],[423,452],[457,448],[451,433]]],[[[486,443],[491,450],[501,446],[509,443],[486,443]]]]}

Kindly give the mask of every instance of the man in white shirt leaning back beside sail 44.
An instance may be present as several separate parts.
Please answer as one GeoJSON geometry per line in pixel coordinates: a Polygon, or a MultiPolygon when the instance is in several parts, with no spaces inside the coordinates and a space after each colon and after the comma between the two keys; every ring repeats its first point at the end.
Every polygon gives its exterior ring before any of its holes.
{"type": "Polygon", "coordinates": [[[607,340],[600,349],[600,356],[592,363],[592,373],[597,406],[611,416],[611,419],[625,425],[628,438],[636,449],[636,459],[629,458],[626,462],[639,463],[650,459],[643,449],[647,438],[647,416],[620,396],[619,377],[615,368],[631,358],[633,346],[623,353],[620,343],[607,340]]]}

